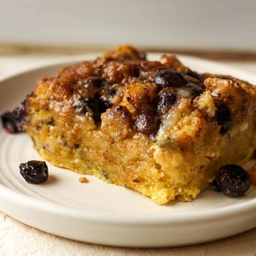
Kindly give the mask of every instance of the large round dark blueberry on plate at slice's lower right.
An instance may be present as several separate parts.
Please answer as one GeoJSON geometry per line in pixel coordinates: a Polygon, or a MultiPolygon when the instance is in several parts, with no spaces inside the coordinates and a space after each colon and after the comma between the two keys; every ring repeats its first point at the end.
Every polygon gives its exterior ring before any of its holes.
{"type": "Polygon", "coordinates": [[[237,164],[226,164],[220,167],[216,182],[224,195],[241,197],[251,185],[250,176],[237,164]]]}

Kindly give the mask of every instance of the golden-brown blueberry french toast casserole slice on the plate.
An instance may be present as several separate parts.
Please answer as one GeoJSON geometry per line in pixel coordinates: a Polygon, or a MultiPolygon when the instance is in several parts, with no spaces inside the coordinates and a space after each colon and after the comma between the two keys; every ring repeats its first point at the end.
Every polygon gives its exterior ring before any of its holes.
{"type": "Polygon", "coordinates": [[[256,147],[253,86],[198,74],[174,55],[147,61],[130,46],[40,79],[23,108],[42,157],[157,204],[193,200],[256,147]]]}

